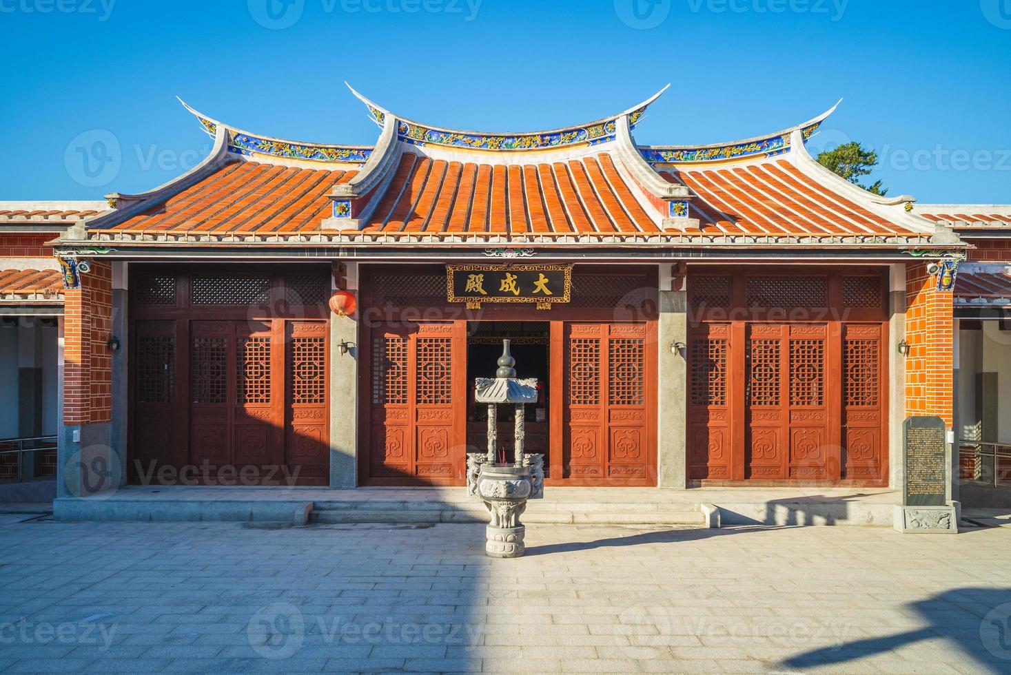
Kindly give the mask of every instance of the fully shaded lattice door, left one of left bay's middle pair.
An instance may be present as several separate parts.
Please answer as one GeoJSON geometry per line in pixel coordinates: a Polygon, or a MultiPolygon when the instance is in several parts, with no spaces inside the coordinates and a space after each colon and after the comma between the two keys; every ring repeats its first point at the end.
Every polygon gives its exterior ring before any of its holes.
{"type": "Polygon", "coordinates": [[[190,463],[228,464],[236,398],[234,322],[192,321],[189,344],[190,463]]]}

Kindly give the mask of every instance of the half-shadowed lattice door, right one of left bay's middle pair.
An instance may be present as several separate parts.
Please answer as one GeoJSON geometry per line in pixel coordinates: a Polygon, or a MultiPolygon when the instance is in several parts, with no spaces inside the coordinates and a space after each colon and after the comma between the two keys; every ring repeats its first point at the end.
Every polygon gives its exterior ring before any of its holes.
{"type": "MultiPolygon", "coordinates": [[[[278,327],[281,327],[278,322],[278,327]]],[[[235,323],[235,408],[231,464],[258,467],[261,480],[284,465],[283,381],[270,321],[235,323]]]]}

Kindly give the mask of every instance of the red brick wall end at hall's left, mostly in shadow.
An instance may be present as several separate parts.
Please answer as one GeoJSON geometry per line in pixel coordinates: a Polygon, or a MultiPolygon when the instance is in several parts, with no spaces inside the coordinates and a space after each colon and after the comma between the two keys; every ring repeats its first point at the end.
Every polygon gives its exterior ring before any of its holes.
{"type": "Polygon", "coordinates": [[[64,423],[93,424],[111,418],[112,266],[94,262],[68,289],[64,302],[64,423]]]}

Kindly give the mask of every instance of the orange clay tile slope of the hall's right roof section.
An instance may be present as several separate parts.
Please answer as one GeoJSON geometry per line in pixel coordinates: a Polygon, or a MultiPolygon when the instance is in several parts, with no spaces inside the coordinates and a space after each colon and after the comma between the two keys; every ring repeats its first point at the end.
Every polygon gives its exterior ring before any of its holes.
{"type": "MultiPolygon", "coordinates": [[[[659,169],[671,183],[686,185],[698,199],[695,233],[756,235],[912,234],[779,159],[737,166],[659,169]]],[[[690,233],[693,230],[690,230],[690,233]]]]}

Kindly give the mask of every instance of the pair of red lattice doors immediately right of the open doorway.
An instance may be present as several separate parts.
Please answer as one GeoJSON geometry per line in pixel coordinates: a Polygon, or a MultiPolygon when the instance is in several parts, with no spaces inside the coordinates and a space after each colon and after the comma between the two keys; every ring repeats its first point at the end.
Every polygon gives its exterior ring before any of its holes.
{"type": "Polygon", "coordinates": [[[644,323],[565,326],[563,477],[655,485],[654,347],[644,323]]]}

